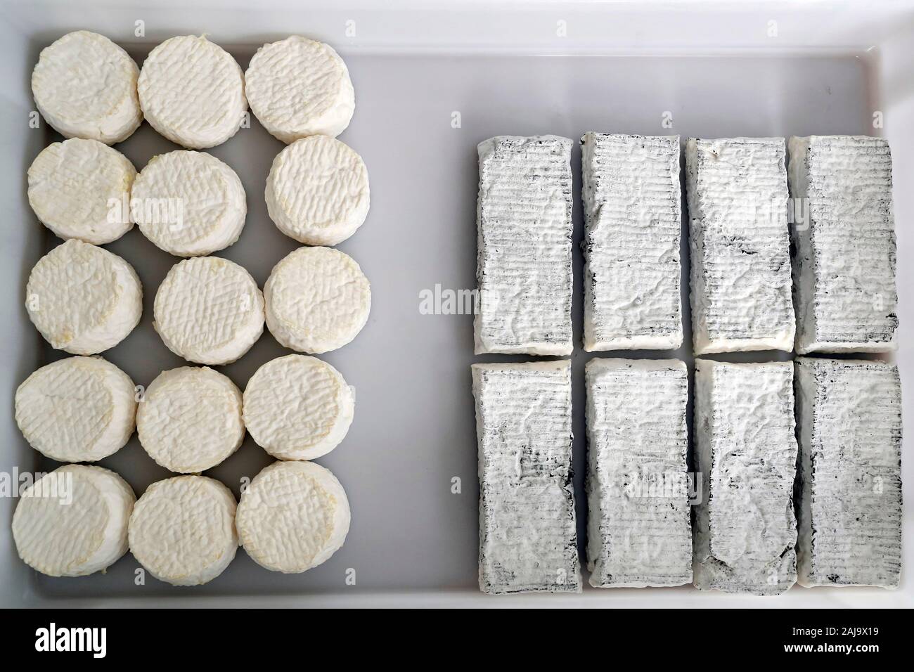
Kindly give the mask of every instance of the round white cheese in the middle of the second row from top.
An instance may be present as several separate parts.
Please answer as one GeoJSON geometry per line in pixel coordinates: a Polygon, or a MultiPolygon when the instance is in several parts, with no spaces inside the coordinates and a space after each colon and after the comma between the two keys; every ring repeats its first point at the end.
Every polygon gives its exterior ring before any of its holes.
{"type": "Polygon", "coordinates": [[[239,239],[248,214],[234,170],[204,152],[154,156],[136,176],[131,203],[143,236],[177,257],[223,250],[239,239]]]}

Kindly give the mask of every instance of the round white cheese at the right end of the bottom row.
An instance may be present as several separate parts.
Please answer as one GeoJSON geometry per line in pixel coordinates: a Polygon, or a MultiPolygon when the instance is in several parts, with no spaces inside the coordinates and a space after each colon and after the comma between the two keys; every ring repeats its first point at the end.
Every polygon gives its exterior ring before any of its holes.
{"type": "Polygon", "coordinates": [[[335,475],[313,462],[276,462],[241,494],[241,545],[260,567],[284,574],[330,558],[349,531],[349,501],[335,475]]]}

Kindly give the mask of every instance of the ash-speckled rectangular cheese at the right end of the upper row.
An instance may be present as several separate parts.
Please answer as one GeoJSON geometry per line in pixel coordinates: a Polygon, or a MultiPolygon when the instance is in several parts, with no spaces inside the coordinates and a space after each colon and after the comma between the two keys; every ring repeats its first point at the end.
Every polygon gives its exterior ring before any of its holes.
{"type": "Polygon", "coordinates": [[[883,138],[792,137],[796,350],[896,347],[892,156],[883,138]]]}

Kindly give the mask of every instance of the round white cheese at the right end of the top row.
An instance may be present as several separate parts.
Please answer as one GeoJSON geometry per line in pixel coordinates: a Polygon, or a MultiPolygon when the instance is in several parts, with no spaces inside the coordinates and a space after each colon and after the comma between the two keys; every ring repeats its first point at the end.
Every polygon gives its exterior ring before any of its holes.
{"type": "Polygon", "coordinates": [[[245,92],[258,121],[283,143],[335,137],[356,110],[343,59],[329,45],[298,35],[257,50],[245,72],[245,92]]]}

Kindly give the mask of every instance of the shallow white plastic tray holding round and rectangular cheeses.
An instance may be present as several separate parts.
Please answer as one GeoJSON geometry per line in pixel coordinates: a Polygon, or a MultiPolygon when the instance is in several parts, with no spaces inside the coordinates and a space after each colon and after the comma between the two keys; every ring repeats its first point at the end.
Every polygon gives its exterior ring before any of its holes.
{"type": "MultiPolygon", "coordinates": [[[[914,427],[914,251],[909,221],[914,196],[914,11],[908,3],[528,4],[452,2],[309,5],[244,2],[7,2],[0,8],[3,95],[0,128],[5,161],[0,180],[4,215],[0,283],[5,366],[0,368],[0,472],[53,468],[22,439],[13,420],[18,383],[51,358],[22,304],[27,274],[58,241],[28,208],[26,170],[40,149],[59,139],[28,127],[34,109],[29,76],[38,51],[69,30],[99,31],[142,62],[166,37],[207,33],[242,68],[265,41],[299,33],[330,42],[345,58],[356,87],[356,115],[341,136],[363,157],[371,176],[366,225],[340,246],[372,283],[368,325],[356,340],[325,358],[356,387],[356,418],[345,439],[319,462],[334,471],[350,497],[353,522],[343,549],[301,575],[257,567],[243,551],[216,581],[175,588],[147,578],[129,554],[106,574],[49,579],[16,557],[9,522],[16,499],[0,497],[0,605],[424,605],[424,606],[899,606],[914,604],[905,572],[896,592],[794,587],[775,598],[676,589],[597,590],[579,596],[488,597],[476,584],[476,443],[470,369],[470,315],[421,315],[420,291],[474,286],[476,144],[499,133],[589,130],[723,137],[810,133],[885,133],[895,159],[900,350],[904,420],[914,427]],[[324,6],[326,5],[326,6],[324,6]],[[327,7],[335,7],[333,9],[327,7]],[[143,37],[134,34],[143,21],[143,37]],[[560,23],[564,22],[564,24],[560,23]],[[774,23],[771,23],[774,22],[774,23]],[[560,37],[562,27],[566,37],[560,37]],[[350,37],[355,31],[355,37],[350,37]],[[770,37],[772,32],[773,37],[770,37]],[[874,130],[882,112],[884,129],[874,130]],[[460,127],[453,128],[453,113],[460,127]],[[662,125],[672,114],[673,127],[662,125]],[[452,494],[452,478],[462,493],[452,494]],[[346,571],[356,571],[347,585],[346,571]]],[[[147,125],[117,145],[138,168],[175,149],[147,125]]],[[[221,256],[239,261],[258,283],[296,243],[267,217],[263,187],[282,149],[256,122],[211,150],[231,165],[248,192],[244,233],[221,256]]],[[[579,152],[575,170],[576,240],[581,237],[579,152]]],[[[685,240],[684,240],[685,242],[685,240]]],[[[134,229],[108,246],[133,263],[143,281],[141,325],[105,353],[138,384],[180,366],[151,326],[158,284],[177,261],[134,229]]],[[[580,332],[581,260],[575,251],[575,330],[580,332]]],[[[687,263],[687,256],[684,257],[687,263]]],[[[684,268],[684,273],[687,266],[684,268]]],[[[684,277],[687,277],[684,275],[684,277]]],[[[685,302],[687,306],[687,301],[685,302]]],[[[686,313],[687,315],[687,313],[686,313]]],[[[686,333],[686,340],[689,334],[686,333]]],[[[239,362],[223,368],[243,387],[264,361],[283,354],[269,333],[239,362]]],[[[632,353],[615,353],[632,356],[632,353]]],[[[763,360],[769,354],[754,354],[763,360]]],[[[682,357],[676,352],[634,356],[682,357]]],[[[575,467],[583,478],[582,368],[574,363],[575,467]]],[[[732,357],[732,356],[731,356],[732,357]]],[[[773,357],[773,355],[772,355],[773,357]]],[[[250,440],[208,472],[236,495],[241,476],[271,459],[250,440]]],[[[167,477],[134,436],[101,464],[121,473],[137,493],[167,477]]],[[[904,496],[914,473],[905,460],[904,496]]],[[[906,506],[907,507],[907,506],[906,506]]],[[[579,529],[586,507],[579,501],[579,529]]],[[[906,517],[905,560],[914,524],[906,517]]],[[[581,534],[581,542],[583,535],[581,534]]]]}

